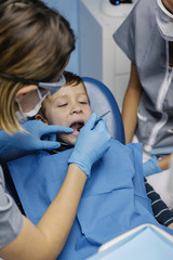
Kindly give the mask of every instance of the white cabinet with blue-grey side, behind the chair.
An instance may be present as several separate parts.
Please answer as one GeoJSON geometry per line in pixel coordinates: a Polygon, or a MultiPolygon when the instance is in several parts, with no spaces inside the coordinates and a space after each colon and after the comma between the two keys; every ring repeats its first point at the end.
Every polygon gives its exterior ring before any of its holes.
{"type": "Polygon", "coordinates": [[[112,35],[135,2],[115,6],[109,1],[109,5],[104,5],[104,0],[80,0],[79,6],[80,75],[105,83],[120,110],[129,81],[130,61],[112,35]]]}

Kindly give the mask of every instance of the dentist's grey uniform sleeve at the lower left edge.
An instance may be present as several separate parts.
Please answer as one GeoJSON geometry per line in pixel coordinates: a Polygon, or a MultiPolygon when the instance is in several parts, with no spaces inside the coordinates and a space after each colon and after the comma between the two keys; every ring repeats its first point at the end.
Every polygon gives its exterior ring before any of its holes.
{"type": "Polygon", "coordinates": [[[13,198],[5,193],[0,167],[0,248],[12,242],[22,231],[23,216],[13,198]]]}

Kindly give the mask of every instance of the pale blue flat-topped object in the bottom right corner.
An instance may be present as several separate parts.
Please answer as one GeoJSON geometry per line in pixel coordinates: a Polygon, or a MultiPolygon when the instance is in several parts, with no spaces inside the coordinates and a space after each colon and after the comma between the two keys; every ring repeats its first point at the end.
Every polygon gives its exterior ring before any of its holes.
{"type": "Polygon", "coordinates": [[[147,224],[88,260],[172,260],[172,256],[173,240],[147,224]]]}

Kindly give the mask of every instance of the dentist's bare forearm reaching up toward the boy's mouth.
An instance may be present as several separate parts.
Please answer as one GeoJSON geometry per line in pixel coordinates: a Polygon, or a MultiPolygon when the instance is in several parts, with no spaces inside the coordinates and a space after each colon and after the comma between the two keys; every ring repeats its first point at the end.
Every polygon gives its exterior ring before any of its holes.
{"type": "Polygon", "coordinates": [[[38,225],[24,217],[21,234],[0,249],[0,257],[8,260],[55,259],[71,230],[85,181],[85,173],[78,166],[69,165],[62,188],[38,225]]]}

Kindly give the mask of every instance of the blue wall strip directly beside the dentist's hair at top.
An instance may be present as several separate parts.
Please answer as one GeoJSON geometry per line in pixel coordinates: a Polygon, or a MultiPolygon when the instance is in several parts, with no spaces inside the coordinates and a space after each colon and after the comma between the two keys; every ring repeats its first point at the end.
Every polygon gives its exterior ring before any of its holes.
{"type": "Polygon", "coordinates": [[[71,57],[67,69],[79,74],[79,1],[80,0],[43,0],[49,6],[57,10],[70,23],[75,31],[77,43],[76,50],[71,53],[71,57]]]}

